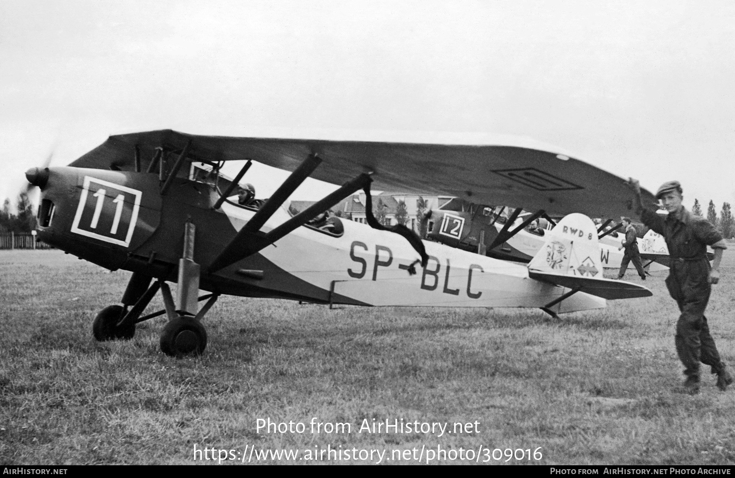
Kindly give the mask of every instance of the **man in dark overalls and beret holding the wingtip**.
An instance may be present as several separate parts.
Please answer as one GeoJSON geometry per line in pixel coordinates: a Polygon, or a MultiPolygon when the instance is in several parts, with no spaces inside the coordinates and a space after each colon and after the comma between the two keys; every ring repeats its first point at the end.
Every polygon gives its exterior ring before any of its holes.
{"type": "Polygon", "coordinates": [[[711,366],[711,372],[717,374],[717,387],[725,391],[733,378],[720,361],[704,316],[711,284],[720,280],[720,261],[723,250],[727,249],[723,236],[709,221],[681,206],[682,190],[678,181],[661,184],[656,192],[656,198],[669,211],[666,219],[643,207],[637,180],[631,178],[630,184],[634,191],[634,210],[645,225],[664,236],[669,247],[671,260],[666,286],[681,311],[676,322],[675,344],[679,360],[684,364],[684,391],[699,392],[700,361],[711,366]],[[708,245],[714,250],[711,267],[706,256],[708,245]]]}

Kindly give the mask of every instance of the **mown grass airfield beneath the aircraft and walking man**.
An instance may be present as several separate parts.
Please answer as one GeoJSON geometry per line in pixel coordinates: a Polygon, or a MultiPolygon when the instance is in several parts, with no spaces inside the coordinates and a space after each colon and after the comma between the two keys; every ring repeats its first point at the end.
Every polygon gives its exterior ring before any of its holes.
{"type": "MultiPolygon", "coordinates": [[[[722,271],[707,315],[735,365],[735,249],[722,271]]],[[[561,322],[524,309],[330,311],[222,297],[204,321],[204,356],[176,360],[159,352],[163,318],[139,325],[132,341],[94,341],[94,316],[118,303],[129,272],[55,250],[2,250],[0,463],[194,463],[195,444],[388,457],[422,446],[540,447],[540,460],[508,463],[735,463],[735,387],[722,393],[703,373],[698,396],[675,391],[678,309],[665,275],[646,281],[653,297],[561,322]],[[352,432],[311,433],[312,417],[352,432]],[[302,422],[306,432],[258,433],[257,419],[302,422]],[[364,419],[479,423],[443,436],[373,434],[358,432],[364,419]]],[[[632,269],[626,278],[639,280],[632,269]]],[[[157,297],[149,310],[159,308],[157,297]]]]}

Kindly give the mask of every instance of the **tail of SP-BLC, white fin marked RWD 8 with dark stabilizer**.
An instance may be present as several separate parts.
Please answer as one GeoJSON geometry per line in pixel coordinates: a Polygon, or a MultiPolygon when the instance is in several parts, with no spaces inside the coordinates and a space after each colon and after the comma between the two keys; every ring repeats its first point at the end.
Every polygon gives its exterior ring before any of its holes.
{"type": "Polygon", "coordinates": [[[530,278],[604,299],[653,295],[643,286],[603,278],[597,229],[584,214],[564,217],[544,239],[544,245],[528,264],[530,278]]]}

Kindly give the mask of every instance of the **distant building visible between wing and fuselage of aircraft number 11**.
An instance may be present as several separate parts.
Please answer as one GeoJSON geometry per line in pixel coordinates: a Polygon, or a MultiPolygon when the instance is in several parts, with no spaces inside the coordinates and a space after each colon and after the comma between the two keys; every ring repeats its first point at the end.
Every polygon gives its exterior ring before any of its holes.
{"type": "MultiPolygon", "coordinates": [[[[404,201],[406,203],[406,226],[418,231],[418,217],[417,217],[417,200],[423,198],[426,201],[425,210],[438,209],[445,203],[451,200],[452,196],[430,196],[430,195],[418,195],[418,194],[407,194],[405,192],[381,192],[380,194],[373,194],[373,214],[378,216],[377,208],[379,201],[383,203],[385,207],[385,225],[396,225],[396,213],[398,213],[398,203],[404,201]]],[[[304,211],[307,207],[314,204],[316,201],[291,201],[290,209],[293,211],[304,211]]],[[[356,222],[367,223],[365,219],[365,192],[351,195],[345,198],[342,202],[337,203],[336,206],[330,209],[331,213],[335,216],[342,217],[343,219],[353,220],[356,222]]]]}

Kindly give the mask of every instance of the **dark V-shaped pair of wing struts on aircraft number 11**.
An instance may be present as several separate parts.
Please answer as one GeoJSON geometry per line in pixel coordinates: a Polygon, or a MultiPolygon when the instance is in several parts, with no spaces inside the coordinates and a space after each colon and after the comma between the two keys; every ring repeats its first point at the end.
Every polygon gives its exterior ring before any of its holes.
{"type": "Polygon", "coordinates": [[[288,233],[294,231],[296,228],[301,227],[310,220],[317,217],[323,211],[331,208],[341,200],[352,195],[354,192],[365,187],[366,184],[370,184],[370,175],[362,173],[351,181],[346,182],[339,189],[327,195],[317,203],[312,204],[308,208],[304,209],[300,213],[291,217],[281,225],[276,226],[268,233],[260,231],[262,225],[270,219],[273,213],[282,206],[285,200],[291,195],[295,189],[304,182],[309,174],[318,167],[321,163],[321,159],[312,154],[304,160],[286,181],[281,184],[279,189],[273,193],[265,204],[255,213],[255,215],[249,220],[242,229],[234,236],[234,239],[226,245],[223,251],[217,258],[212,262],[209,267],[209,273],[217,272],[224,267],[234,264],[240,259],[252,256],[259,250],[268,247],[277,240],[286,236],[288,233]]]}

